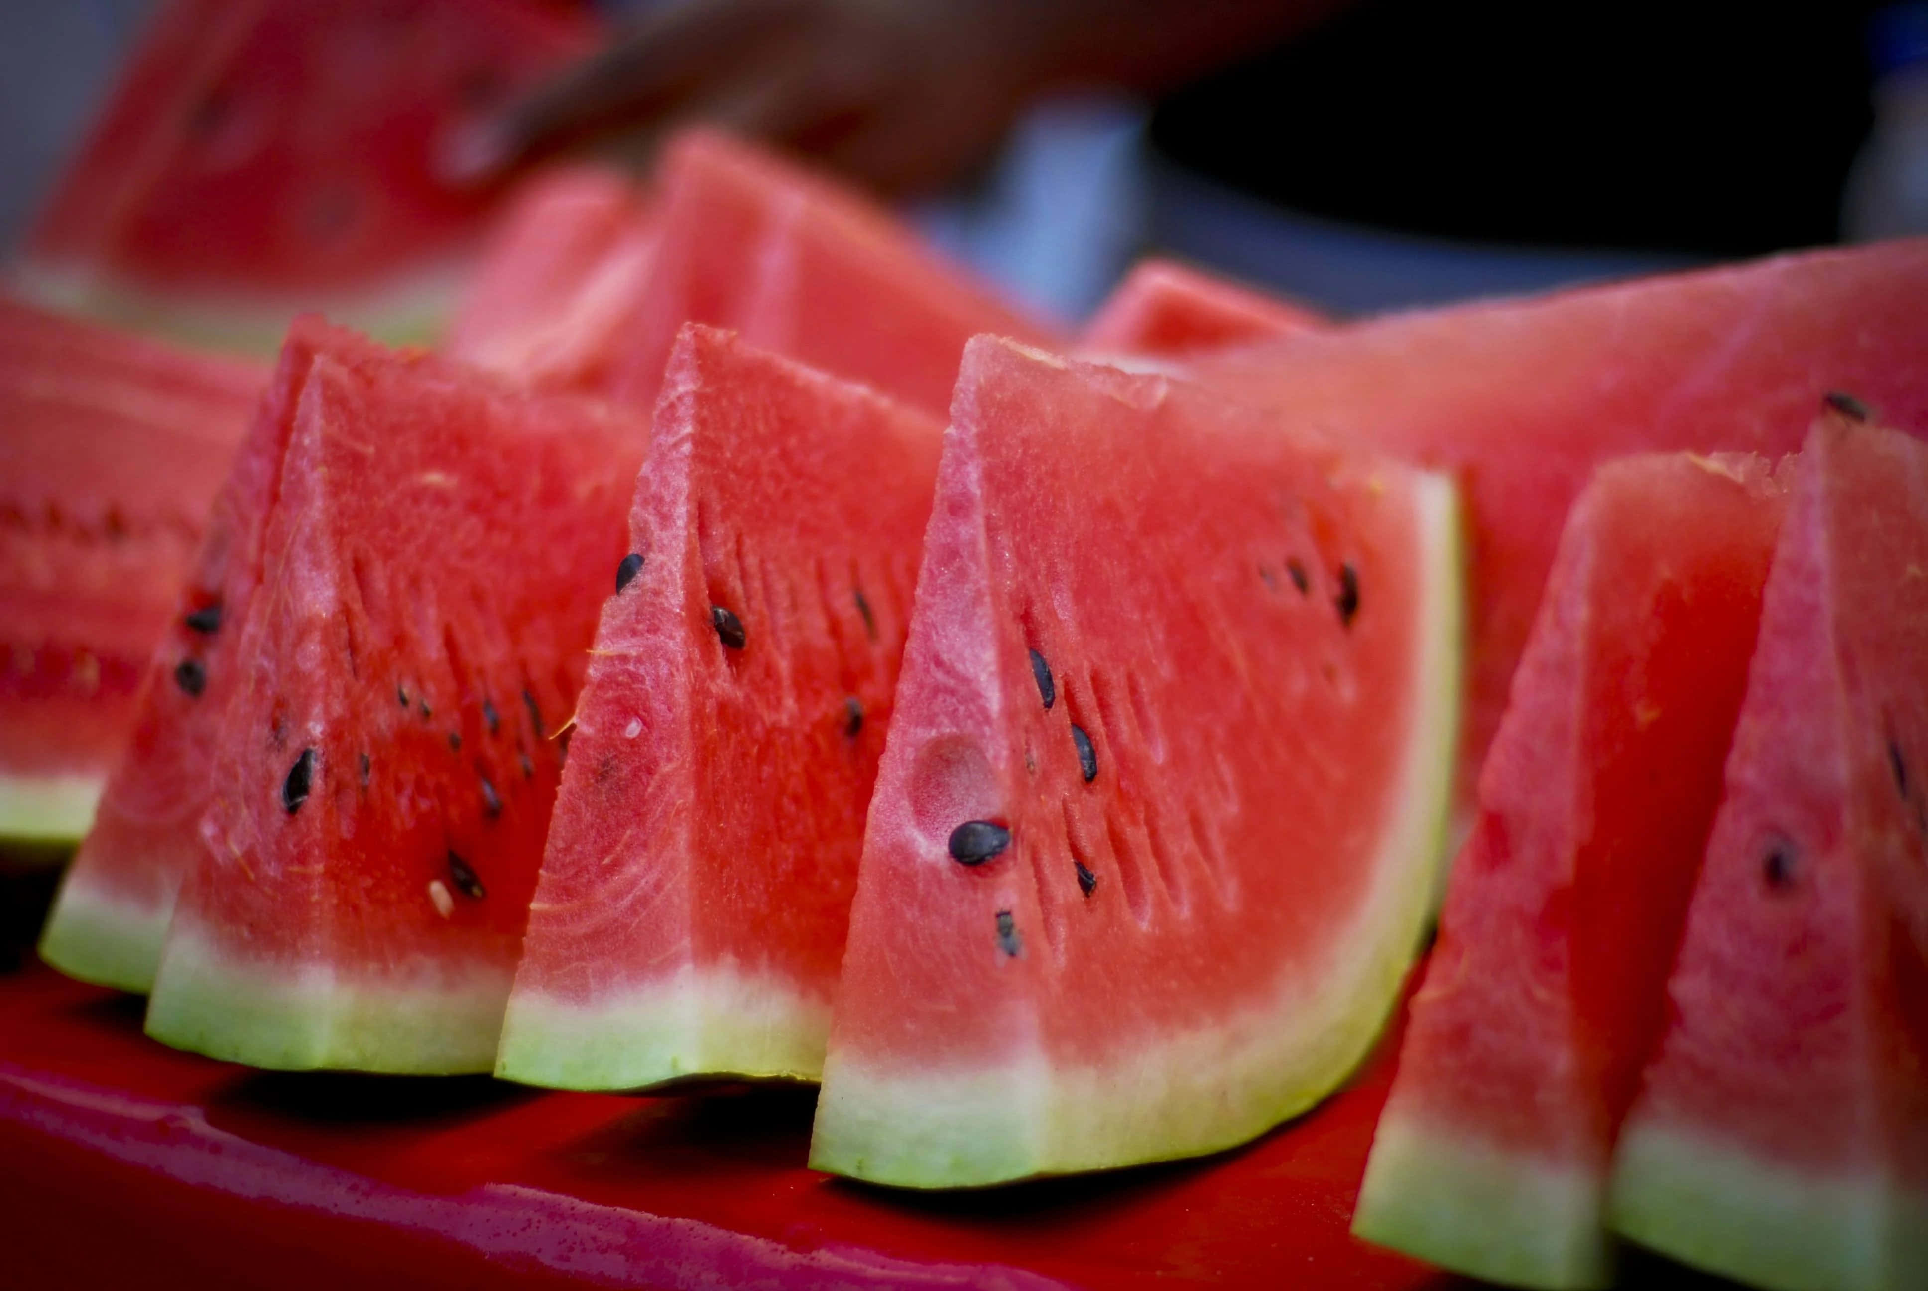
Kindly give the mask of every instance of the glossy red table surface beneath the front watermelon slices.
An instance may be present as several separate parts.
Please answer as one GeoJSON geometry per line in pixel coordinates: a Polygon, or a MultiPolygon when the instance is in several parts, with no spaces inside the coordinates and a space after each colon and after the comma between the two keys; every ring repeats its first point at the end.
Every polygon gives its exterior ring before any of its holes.
{"type": "Polygon", "coordinates": [[[1238,1152],[906,1195],[806,1169],[808,1088],[249,1071],[29,959],[0,975],[0,1287],[1442,1291],[1346,1231],[1388,1050],[1238,1152]]]}

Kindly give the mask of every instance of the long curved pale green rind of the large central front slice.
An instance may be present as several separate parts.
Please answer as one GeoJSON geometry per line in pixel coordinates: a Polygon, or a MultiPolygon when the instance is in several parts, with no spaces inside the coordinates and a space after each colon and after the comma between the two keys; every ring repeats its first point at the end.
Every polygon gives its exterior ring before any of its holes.
{"type": "Polygon", "coordinates": [[[983,1071],[866,1071],[833,1052],[810,1167],[902,1189],[958,1189],[1111,1169],[1238,1146],[1330,1094],[1373,1050],[1433,917],[1446,859],[1465,656],[1459,500],[1415,477],[1427,604],[1406,789],[1380,845],[1379,890],[1340,938],[1313,1000],[1282,984],[1272,1007],[1141,1048],[1112,1069],[1043,1059],[983,1071]]]}

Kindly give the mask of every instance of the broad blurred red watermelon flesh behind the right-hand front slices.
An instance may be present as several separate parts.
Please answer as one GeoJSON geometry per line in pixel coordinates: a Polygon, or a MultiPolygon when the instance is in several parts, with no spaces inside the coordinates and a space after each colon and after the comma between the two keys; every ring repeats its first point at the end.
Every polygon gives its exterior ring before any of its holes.
{"type": "Polygon", "coordinates": [[[1473,540],[1461,795],[1506,710],[1567,506],[1647,450],[1801,444],[1830,390],[1928,432],[1928,239],[1313,330],[1199,380],[1294,425],[1452,469],[1473,540]]]}

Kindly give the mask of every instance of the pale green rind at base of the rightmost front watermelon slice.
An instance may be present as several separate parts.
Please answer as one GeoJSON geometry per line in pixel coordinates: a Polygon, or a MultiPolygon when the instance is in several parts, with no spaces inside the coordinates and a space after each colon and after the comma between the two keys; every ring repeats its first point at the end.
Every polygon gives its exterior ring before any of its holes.
{"type": "Polygon", "coordinates": [[[1608,1223],[1621,1237],[1766,1291],[1928,1285],[1928,1195],[1810,1175],[1664,1123],[1629,1127],[1608,1223]]]}

